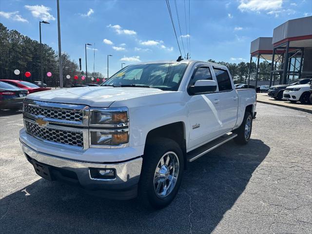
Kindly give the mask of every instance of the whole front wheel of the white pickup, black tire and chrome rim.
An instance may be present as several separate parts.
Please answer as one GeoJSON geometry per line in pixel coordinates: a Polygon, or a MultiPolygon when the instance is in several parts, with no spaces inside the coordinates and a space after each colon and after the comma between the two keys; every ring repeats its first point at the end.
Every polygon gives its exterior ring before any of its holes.
{"type": "Polygon", "coordinates": [[[176,141],[157,139],[146,146],[138,197],[147,208],[161,209],[175,198],[181,184],[184,158],[176,141]]]}

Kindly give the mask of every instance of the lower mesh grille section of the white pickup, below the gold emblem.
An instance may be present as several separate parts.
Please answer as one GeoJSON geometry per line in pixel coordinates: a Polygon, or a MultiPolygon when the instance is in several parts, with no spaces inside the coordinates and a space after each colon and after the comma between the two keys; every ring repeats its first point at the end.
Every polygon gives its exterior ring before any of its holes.
{"type": "Polygon", "coordinates": [[[53,127],[40,127],[39,125],[25,120],[25,127],[28,134],[42,140],[52,141],[59,144],[82,147],[83,133],[81,131],[67,131],[54,129],[53,127]]]}

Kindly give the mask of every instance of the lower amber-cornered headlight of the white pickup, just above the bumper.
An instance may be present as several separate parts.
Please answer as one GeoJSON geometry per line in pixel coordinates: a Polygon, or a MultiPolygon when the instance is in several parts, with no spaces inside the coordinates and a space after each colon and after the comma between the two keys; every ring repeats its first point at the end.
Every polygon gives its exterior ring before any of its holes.
{"type": "Polygon", "coordinates": [[[91,145],[120,145],[128,143],[129,134],[128,132],[114,132],[109,133],[106,131],[93,131],[90,130],[91,134],[91,145]]]}

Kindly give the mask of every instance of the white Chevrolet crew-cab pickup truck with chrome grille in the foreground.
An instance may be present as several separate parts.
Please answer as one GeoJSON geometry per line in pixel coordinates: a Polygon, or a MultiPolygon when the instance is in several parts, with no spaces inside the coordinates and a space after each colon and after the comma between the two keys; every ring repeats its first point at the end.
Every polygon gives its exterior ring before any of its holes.
{"type": "Polygon", "coordinates": [[[188,162],[231,139],[249,141],[255,107],[255,90],[235,90],[225,66],[139,63],[99,87],[27,96],[20,143],[43,178],[159,209],[176,196],[188,162]]]}

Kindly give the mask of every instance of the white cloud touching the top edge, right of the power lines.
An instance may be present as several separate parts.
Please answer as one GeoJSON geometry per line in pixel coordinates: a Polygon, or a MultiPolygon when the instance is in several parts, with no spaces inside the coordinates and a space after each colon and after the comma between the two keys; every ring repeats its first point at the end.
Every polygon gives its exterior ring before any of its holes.
{"type": "Polygon", "coordinates": [[[282,8],[283,0],[240,0],[240,11],[272,11],[282,8]]]}

